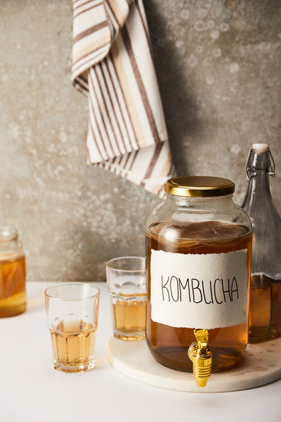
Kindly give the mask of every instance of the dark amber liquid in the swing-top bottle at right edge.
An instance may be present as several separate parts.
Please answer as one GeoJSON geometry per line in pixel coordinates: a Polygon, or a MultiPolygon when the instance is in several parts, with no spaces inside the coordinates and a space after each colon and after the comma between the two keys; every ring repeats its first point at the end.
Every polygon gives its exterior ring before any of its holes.
{"type": "Polygon", "coordinates": [[[281,280],[265,274],[251,275],[249,343],[281,336],[281,280]]]}

